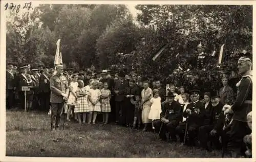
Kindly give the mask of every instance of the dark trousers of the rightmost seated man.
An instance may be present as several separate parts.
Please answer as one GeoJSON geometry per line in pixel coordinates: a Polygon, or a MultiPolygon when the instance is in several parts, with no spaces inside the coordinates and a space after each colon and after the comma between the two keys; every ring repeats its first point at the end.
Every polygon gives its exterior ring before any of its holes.
{"type": "Polygon", "coordinates": [[[209,134],[212,129],[214,129],[213,125],[200,126],[198,130],[198,140],[203,148],[207,149],[207,142],[210,141],[216,146],[216,148],[220,149],[221,145],[219,137],[221,135],[221,131],[217,130],[217,134],[213,136],[209,134]]]}

